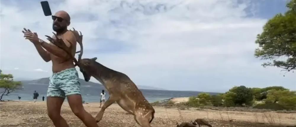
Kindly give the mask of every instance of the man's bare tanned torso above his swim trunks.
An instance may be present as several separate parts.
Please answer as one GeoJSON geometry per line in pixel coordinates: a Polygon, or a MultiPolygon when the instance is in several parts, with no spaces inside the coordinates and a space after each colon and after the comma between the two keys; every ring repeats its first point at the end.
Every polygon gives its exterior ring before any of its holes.
{"type": "MultiPolygon", "coordinates": [[[[63,33],[62,35],[57,35],[58,38],[60,39],[63,39],[63,41],[65,42],[65,44],[67,46],[70,46],[69,42],[67,42],[67,40],[65,38],[75,38],[74,34],[71,32],[71,31],[67,31],[65,33],[63,33]]],[[[53,36],[52,38],[55,39],[55,36],[53,36]]],[[[76,39],[75,39],[76,40],[76,39]]],[[[50,43],[51,45],[54,45],[52,43],[50,43]]],[[[54,45],[56,46],[56,45],[54,45]]],[[[72,46],[72,55],[74,56],[75,55],[75,51],[76,51],[76,45],[72,46]]],[[[50,58],[52,60],[52,72],[55,73],[55,72],[60,72],[62,70],[65,70],[65,69],[68,69],[68,68],[73,68],[75,67],[74,64],[73,64],[73,60],[72,59],[69,59],[67,61],[65,61],[66,59],[65,58],[61,58],[61,57],[58,57],[58,56],[55,56],[54,54],[50,53],[50,58]],[[65,61],[65,62],[63,62],[65,61]],[[62,62],[62,63],[61,63],[62,62]]]]}

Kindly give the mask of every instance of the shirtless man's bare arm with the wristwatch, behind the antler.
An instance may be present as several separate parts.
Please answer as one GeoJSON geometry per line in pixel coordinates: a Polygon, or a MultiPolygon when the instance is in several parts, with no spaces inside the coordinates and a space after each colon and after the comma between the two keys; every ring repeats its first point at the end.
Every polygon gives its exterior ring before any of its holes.
{"type": "MultiPolygon", "coordinates": [[[[76,38],[72,32],[67,32],[64,37],[65,38],[63,38],[63,40],[64,40],[65,44],[67,45],[67,47],[70,47],[71,44],[72,44],[72,48],[76,47],[76,38]],[[65,40],[69,40],[69,42],[65,41],[65,40]]],[[[55,36],[53,36],[53,38],[55,38],[55,36]]],[[[67,52],[65,52],[61,48],[59,48],[55,45],[51,45],[49,43],[46,43],[45,41],[43,43],[41,43],[41,46],[43,48],[45,48],[47,51],[49,51],[49,53],[52,53],[55,56],[66,58],[66,59],[71,57],[67,54],[67,52]]]]}

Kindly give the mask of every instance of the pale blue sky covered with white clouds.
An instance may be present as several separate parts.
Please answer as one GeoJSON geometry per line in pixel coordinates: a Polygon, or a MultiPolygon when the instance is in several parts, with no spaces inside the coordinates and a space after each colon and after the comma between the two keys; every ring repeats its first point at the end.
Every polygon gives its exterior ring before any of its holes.
{"type": "MultiPolygon", "coordinates": [[[[288,0],[49,0],[52,13],[67,11],[69,28],[83,33],[83,58],[127,74],[137,85],[169,90],[225,92],[233,86],[284,86],[296,74],[263,68],[254,57],[256,35],[283,13],[288,0]]],[[[15,79],[52,74],[25,27],[52,35],[40,1],[1,0],[0,69],[15,79]]],[[[79,45],[77,47],[79,50],[79,45]]],[[[76,55],[77,58],[77,55],[76,55]]],[[[78,68],[77,68],[78,69],[78,68]]],[[[80,78],[83,78],[79,72],[80,78]]],[[[93,82],[97,82],[94,78],[93,82]]]]}

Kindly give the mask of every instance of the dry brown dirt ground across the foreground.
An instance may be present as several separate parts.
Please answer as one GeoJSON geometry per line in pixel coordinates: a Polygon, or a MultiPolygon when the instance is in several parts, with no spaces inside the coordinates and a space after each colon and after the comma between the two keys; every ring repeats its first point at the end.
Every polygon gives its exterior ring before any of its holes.
{"type": "MultiPolygon", "coordinates": [[[[96,116],[99,103],[83,104],[86,111],[96,116]]],[[[154,107],[153,127],[176,127],[177,122],[190,122],[205,118],[213,127],[285,127],[296,125],[295,113],[254,113],[215,110],[178,110],[177,108],[154,107]],[[181,114],[181,116],[180,116],[181,114]],[[229,120],[233,120],[229,122],[229,120]]],[[[71,127],[85,125],[71,112],[67,102],[62,106],[62,116],[71,127]]],[[[0,127],[54,127],[46,114],[45,102],[0,102],[0,127]]],[[[108,107],[100,127],[140,127],[132,115],[126,114],[117,104],[108,107]]]]}

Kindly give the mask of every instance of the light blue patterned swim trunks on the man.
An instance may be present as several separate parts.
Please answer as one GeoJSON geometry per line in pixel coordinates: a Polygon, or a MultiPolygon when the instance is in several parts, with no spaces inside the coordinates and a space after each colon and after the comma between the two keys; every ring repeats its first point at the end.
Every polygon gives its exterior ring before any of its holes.
{"type": "Polygon", "coordinates": [[[63,97],[68,95],[80,94],[80,82],[78,72],[75,68],[65,69],[53,73],[49,77],[47,97],[63,97]]]}

